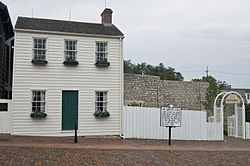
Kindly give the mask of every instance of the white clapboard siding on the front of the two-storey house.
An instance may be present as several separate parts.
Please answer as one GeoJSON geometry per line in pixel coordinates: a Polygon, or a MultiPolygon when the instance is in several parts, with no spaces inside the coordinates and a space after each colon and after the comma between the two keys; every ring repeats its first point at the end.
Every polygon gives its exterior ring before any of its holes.
{"type": "Polygon", "coordinates": [[[73,131],[62,128],[62,90],[79,91],[79,135],[119,135],[122,109],[122,41],[120,39],[64,36],[16,32],[13,87],[13,134],[39,136],[69,136],[73,131]],[[33,65],[33,38],[47,38],[47,65],[33,65]],[[66,66],[64,40],[78,41],[79,65],[66,66]],[[95,66],[95,42],[107,41],[109,67],[95,66]],[[47,97],[47,117],[32,119],[31,90],[44,89],[47,97]],[[108,91],[110,117],[97,119],[95,91],[108,91]]]}

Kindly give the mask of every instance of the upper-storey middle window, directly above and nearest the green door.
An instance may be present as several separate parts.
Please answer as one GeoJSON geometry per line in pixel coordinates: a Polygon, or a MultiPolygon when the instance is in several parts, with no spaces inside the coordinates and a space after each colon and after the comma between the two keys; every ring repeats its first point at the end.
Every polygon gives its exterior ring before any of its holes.
{"type": "Polygon", "coordinates": [[[77,56],[77,41],[65,41],[65,61],[76,61],[77,56]]]}

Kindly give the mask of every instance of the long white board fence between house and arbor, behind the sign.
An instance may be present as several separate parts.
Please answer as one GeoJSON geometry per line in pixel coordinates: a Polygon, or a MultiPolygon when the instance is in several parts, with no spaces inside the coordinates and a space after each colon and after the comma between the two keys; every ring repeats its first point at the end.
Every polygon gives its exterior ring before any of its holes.
{"type": "MultiPolygon", "coordinates": [[[[124,107],[125,138],[168,139],[168,129],[160,126],[160,109],[124,107]]],[[[222,124],[207,122],[205,111],[182,111],[181,127],[172,128],[176,140],[223,140],[222,124]]]]}

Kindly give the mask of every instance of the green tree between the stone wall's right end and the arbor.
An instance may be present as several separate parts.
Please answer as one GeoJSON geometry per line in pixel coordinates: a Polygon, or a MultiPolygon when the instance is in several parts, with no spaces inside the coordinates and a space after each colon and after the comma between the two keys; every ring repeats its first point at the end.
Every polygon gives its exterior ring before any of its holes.
{"type": "Polygon", "coordinates": [[[213,109],[213,103],[216,96],[222,92],[223,90],[230,89],[231,86],[228,85],[225,81],[216,81],[216,79],[212,76],[202,77],[202,79],[193,79],[192,81],[202,81],[208,82],[209,86],[206,92],[206,101],[203,102],[206,110],[213,109]]]}

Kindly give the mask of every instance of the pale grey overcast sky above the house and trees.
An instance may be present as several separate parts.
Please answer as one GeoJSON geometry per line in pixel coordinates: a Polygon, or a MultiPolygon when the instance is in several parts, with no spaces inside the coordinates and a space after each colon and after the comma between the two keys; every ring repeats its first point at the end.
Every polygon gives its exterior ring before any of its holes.
{"type": "MultiPolygon", "coordinates": [[[[105,0],[2,0],[17,16],[101,22],[105,0]]],[[[209,74],[233,88],[250,89],[249,0],[107,0],[125,34],[124,57],[163,62],[184,76],[209,74]]]]}

